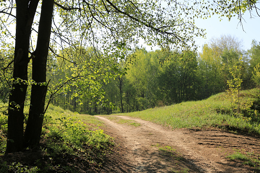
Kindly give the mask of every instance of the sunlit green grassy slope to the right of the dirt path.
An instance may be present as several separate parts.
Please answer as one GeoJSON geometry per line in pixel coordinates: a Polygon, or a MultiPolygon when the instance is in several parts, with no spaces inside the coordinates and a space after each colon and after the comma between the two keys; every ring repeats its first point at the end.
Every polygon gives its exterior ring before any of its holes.
{"type": "Polygon", "coordinates": [[[259,114],[253,110],[254,106],[260,105],[260,90],[245,90],[240,95],[240,115],[234,115],[229,101],[225,99],[225,93],[213,95],[202,101],[116,115],[138,117],[173,129],[211,126],[260,134],[259,114]],[[243,109],[248,104],[251,105],[251,109],[243,109]]]}

